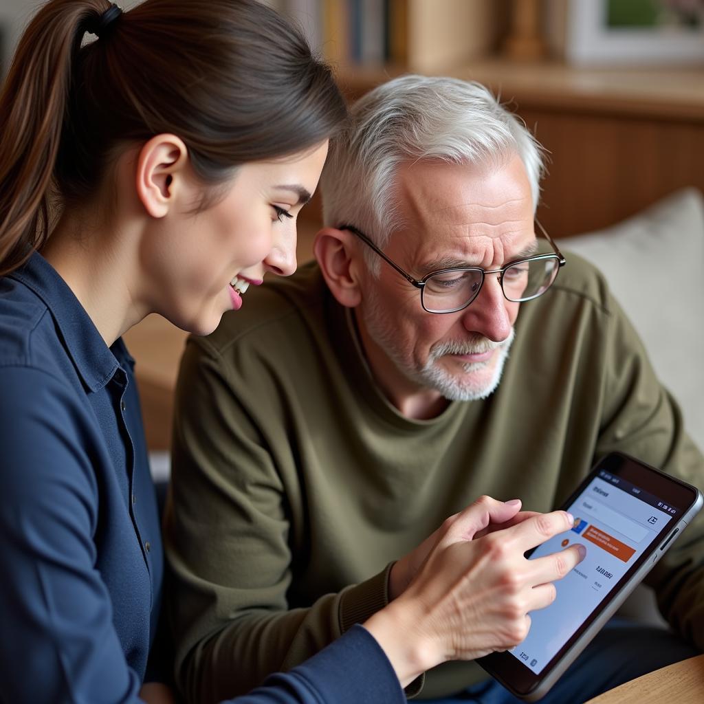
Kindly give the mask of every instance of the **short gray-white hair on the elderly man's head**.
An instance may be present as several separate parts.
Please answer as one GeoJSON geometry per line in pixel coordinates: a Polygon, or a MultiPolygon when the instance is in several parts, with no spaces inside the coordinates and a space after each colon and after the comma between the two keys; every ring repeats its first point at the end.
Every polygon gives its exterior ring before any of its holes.
{"type": "MultiPolygon", "coordinates": [[[[403,76],[367,93],[351,116],[350,130],[330,144],[320,181],[325,225],[356,225],[385,246],[404,225],[394,202],[398,168],[423,159],[491,163],[517,153],[537,208],[542,148],[479,83],[403,76]]],[[[368,254],[378,272],[379,262],[368,254]]]]}

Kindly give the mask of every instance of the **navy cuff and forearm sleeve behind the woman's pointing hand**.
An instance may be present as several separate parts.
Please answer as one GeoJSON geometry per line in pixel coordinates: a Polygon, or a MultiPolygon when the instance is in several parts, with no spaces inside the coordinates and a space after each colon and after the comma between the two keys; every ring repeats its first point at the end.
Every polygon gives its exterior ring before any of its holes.
{"type": "Polygon", "coordinates": [[[232,704],[405,704],[396,674],[375,639],[361,626],[291,672],[273,674],[264,685],[232,704]]]}

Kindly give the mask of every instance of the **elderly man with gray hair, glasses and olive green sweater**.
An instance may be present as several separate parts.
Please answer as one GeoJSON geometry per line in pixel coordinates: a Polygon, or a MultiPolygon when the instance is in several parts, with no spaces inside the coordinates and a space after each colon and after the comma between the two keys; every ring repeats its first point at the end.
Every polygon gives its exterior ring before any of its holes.
{"type": "MultiPolygon", "coordinates": [[[[248,292],[184,356],[167,544],[191,696],[218,678],[244,691],[363,622],[480,494],[548,511],[612,450],[704,483],[607,284],[563,268],[534,220],[525,127],[477,84],[413,76],[353,118],[322,178],[317,262],[248,292]]],[[[548,700],[704,646],[703,529],[650,577],[678,636],[605,629],[548,700]]],[[[472,662],[419,696],[513,701],[472,662]]]]}

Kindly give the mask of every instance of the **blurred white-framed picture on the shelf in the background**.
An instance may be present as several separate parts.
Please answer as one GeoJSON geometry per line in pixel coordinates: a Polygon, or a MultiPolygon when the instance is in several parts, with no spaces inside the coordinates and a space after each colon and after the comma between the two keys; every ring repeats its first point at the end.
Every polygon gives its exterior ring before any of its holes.
{"type": "Polygon", "coordinates": [[[562,1],[569,63],[704,65],[704,0],[562,1]]]}

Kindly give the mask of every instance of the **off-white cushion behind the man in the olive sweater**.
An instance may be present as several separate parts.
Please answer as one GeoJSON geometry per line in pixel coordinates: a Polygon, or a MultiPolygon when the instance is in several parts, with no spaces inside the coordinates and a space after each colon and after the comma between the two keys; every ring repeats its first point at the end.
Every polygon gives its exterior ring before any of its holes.
{"type": "MultiPolygon", "coordinates": [[[[596,264],[704,448],[704,197],[683,189],[617,225],[559,241],[596,264]]],[[[569,266],[569,256],[567,266],[569,266]]]]}

